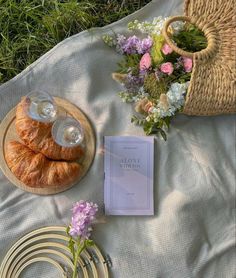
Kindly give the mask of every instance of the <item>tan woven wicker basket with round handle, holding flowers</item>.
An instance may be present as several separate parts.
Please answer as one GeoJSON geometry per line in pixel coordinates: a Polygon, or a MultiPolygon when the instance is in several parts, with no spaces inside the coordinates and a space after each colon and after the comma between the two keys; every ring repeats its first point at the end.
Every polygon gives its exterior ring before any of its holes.
{"type": "Polygon", "coordinates": [[[185,16],[167,20],[163,35],[173,50],[193,59],[193,71],[183,113],[217,115],[236,113],[236,11],[235,0],[186,0],[185,16]],[[206,49],[190,53],[168,37],[174,21],[188,21],[201,29],[206,49]]]}

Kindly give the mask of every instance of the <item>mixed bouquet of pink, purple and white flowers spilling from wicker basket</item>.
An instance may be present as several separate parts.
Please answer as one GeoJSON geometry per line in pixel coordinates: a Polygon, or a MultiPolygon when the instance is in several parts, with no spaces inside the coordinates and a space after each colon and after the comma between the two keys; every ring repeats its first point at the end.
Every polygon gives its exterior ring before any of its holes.
{"type": "MultiPolygon", "coordinates": [[[[160,133],[166,140],[171,119],[183,110],[193,60],[181,56],[165,42],[166,18],[153,22],[135,20],[128,24],[130,36],[103,36],[104,42],[123,55],[113,79],[123,84],[119,96],[134,103],[131,121],[143,126],[147,135],[160,133]]],[[[190,23],[175,22],[168,29],[178,47],[191,52],[206,47],[204,33],[190,23]]]]}

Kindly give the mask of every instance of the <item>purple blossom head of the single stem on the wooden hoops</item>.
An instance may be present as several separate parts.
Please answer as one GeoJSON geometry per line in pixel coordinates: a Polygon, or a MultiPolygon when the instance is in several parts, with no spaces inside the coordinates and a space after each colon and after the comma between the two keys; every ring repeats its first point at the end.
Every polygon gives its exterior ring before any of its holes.
{"type": "Polygon", "coordinates": [[[88,239],[92,231],[92,223],[98,211],[98,205],[92,202],[80,201],[72,208],[72,219],[69,234],[88,239]]]}

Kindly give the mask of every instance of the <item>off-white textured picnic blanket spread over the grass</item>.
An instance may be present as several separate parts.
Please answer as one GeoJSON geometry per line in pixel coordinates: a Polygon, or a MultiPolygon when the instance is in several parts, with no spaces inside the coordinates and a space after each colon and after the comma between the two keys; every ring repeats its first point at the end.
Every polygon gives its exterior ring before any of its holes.
{"type": "MultiPolygon", "coordinates": [[[[134,19],[182,14],[181,0],[152,1],[104,28],[70,37],[0,87],[0,120],[33,88],[64,97],[85,111],[97,136],[95,161],[72,189],[37,196],[12,185],[0,172],[0,261],[25,233],[67,225],[80,199],[103,205],[104,135],[143,135],[130,123],[132,107],[117,96],[111,78],[120,56],[101,36],[123,33],[134,19]]],[[[235,116],[179,115],[168,141],[157,140],[155,215],[108,217],[93,237],[112,259],[114,278],[235,278],[235,116]]],[[[55,278],[47,265],[22,277],[55,278]]],[[[3,277],[1,277],[3,278],[3,277]]],[[[103,277],[101,277],[103,278],[103,277]]]]}

